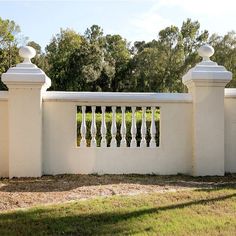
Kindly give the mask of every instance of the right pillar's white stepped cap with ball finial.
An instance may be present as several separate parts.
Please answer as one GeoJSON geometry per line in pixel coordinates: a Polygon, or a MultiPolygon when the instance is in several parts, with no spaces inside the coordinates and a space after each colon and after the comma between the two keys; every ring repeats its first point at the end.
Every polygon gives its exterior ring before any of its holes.
{"type": "Polygon", "coordinates": [[[225,86],[231,79],[232,73],[224,66],[218,65],[210,60],[214,54],[214,48],[208,44],[202,45],[198,49],[198,54],[202,61],[190,69],[182,78],[182,82],[189,86],[225,86]]]}

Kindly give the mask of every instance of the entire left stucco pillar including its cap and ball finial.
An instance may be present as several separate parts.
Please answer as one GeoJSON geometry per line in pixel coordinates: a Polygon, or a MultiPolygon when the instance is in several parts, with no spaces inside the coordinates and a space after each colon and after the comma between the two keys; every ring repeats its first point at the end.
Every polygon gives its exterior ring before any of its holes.
{"type": "Polygon", "coordinates": [[[50,79],[30,59],[32,47],[19,51],[23,63],[2,75],[9,90],[9,177],[42,175],[42,93],[50,79]]]}

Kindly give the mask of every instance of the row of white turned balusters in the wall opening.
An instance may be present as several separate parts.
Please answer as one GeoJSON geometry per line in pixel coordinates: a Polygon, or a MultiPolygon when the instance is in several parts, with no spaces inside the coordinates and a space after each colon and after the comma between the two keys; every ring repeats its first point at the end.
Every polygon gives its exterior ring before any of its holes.
{"type": "MultiPolygon", "coordinates": [[[[136,104],[135,104],[136,105],[136,104]]],[[[99,106],[96,104],[96,106],[99,106]]],[[[90,134],[91,134],[91,140],[90,140],[90,147],[97,147],[97,125],[96,122],[96,106],[92,105],[91,110],[92,110],[92,120],[91,120],[91,126],[90,126],[90,134]]],[[[130,148],[136,148],[138,147],[137,144],[137,113],[136,113],[136,106],[131,106],[131,127],[128,125],[130,133],[131,133],[131,140],[128,142],[127,141],[127,127],[126,127],[126,107],[121,106],[121,127],[120,127],[120,135],[121,139],[118,140],[120,141],[120,147],[130,147],[130,148]],[[128,144],[129,143],[129,144],[128,144]]],[[[139,147],[144,148],[149,146],[150,148],[155,148],[157,147],[157,142],[156,142],[156,121],[155,121],[155,114],[156,114],[156,106],[151,107],[151,123],[150,126],[147,127],[147,107],[142,106],[142,122],[141,122],[141,142],[139,147]],[[147,128],[150,130],[150,139],[147,138],[147,128]]],[[[80,134],[81,134],[81,140],[79,146],[81,148],[87,147],[88,141],[86,140],[86,134],[87,134],[87,127],[86,127],[86,106],[82,105],[81,106],[82,114],[81,114],[81,126],[80,126],[80,134]]],[[[101,143],[100,147],[102,148],[107,148],[108,146],[110,147],[117,147],[117,121],[116,121],[116,110],[117,106],[112,106],[112,124],[110,127],[110,130],[107,130],[107,121],[106,121],[106,106],[101,106],[101,126],[100,127],[100,132],[99,134],[101,135],[101,143]],[[108,143],[107,140],[107,132],[111,133],[111,141],[108,143]]],[[[129,118],[129,119],[130,119],[129,118]]],[[[148,119],[150,119],[148,118],[148,119]]],[[[129,122],[129,120],[128,120],[129,122]]]]}

